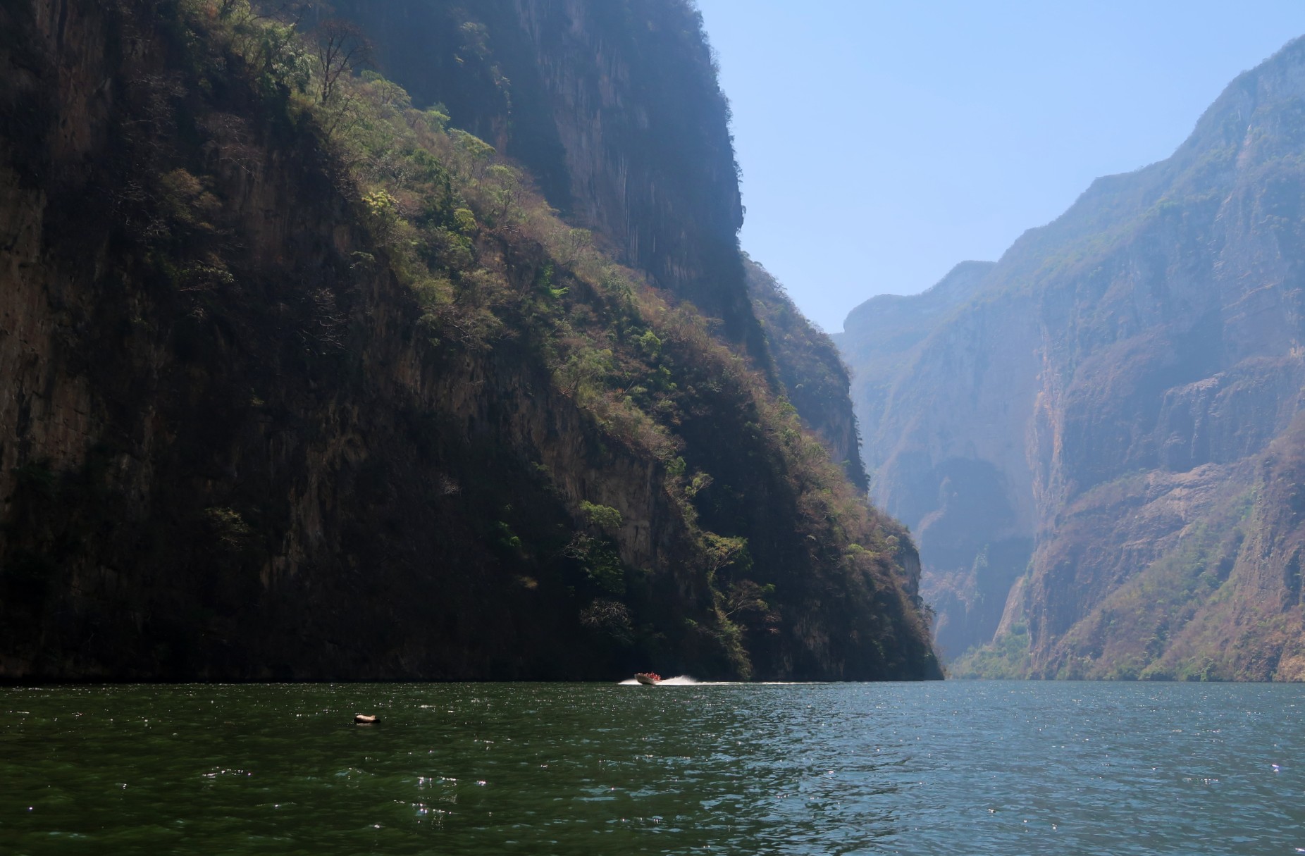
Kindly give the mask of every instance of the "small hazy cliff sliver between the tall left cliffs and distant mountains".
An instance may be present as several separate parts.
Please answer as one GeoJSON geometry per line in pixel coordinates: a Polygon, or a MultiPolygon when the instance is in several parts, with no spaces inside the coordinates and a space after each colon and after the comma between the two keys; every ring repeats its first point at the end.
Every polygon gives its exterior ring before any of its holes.
{"type": "Polygon", "coordinates": [[[748,294],[784,394],[797,408],[803,424],[825,441],[830,457],[839,462],[852,484],[861,492],[868,491],[860,433],[852,414],[851,382],[838,348],[803,316],[765,268],[744,257],[744,269],[748,294]]]}

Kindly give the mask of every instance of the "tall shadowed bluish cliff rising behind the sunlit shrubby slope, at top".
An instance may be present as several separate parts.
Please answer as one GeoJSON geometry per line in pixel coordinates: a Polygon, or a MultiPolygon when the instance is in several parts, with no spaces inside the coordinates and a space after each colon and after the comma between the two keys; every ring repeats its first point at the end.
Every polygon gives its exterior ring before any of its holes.
{"type": "Polygon", "coordinates": [[[540,176],[548,201],[765,361],[702,18],[684,0],[346,0],[419,103],[540,176]]]}

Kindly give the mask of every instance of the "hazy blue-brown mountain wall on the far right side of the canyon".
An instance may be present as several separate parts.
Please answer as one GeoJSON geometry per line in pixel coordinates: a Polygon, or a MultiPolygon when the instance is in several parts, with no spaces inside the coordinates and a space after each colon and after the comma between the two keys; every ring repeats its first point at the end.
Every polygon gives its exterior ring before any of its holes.
{"type": "MultiPolygon", "coordinates": [[[[1015,652],[1047,677],[1300,677],[1276,485],[1305,382],[1302,97],[1293,42],[1172,158],[1096,181],[904,347],[867,320],[874,301],[850,317],[874,496],[916,527],[940,639],[970,622],[955,656],[1000,637],[962,671],[1015,652]],[[857,338],[890,358],[863,367],[857,338]]],[[[916,320],[940,303],[899,301],[916,320]]]]}

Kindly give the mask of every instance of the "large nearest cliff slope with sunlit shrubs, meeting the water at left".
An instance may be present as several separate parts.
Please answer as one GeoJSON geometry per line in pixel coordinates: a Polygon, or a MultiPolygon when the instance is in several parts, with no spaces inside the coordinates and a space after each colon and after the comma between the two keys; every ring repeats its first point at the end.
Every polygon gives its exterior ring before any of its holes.
{"type": "Polygon", "coordinates": [[[240,13],[0,8],[0,676],[937,675],[765,378],[240,13]]]}

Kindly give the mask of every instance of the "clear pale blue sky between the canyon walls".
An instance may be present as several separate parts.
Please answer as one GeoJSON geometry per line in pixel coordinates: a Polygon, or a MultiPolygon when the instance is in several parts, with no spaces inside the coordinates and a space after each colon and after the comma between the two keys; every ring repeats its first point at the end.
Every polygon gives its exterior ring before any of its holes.
{"type": "Polygon", "coordinates": [[[743,247],[829,331],[1160,160],[1305,0],[698,0],[743,247]]]}

